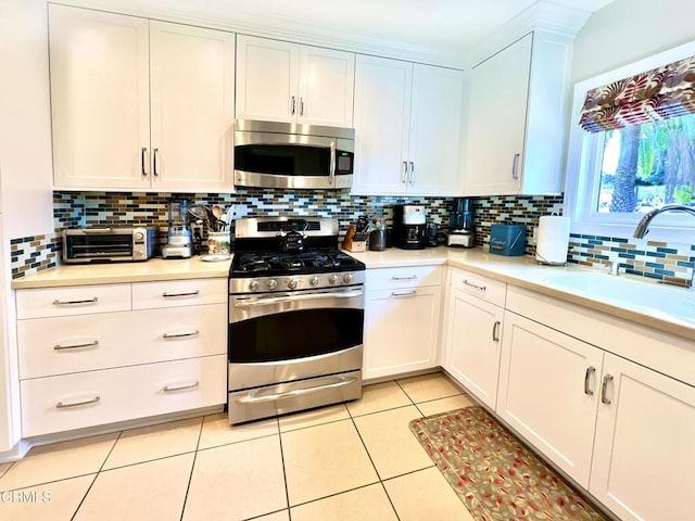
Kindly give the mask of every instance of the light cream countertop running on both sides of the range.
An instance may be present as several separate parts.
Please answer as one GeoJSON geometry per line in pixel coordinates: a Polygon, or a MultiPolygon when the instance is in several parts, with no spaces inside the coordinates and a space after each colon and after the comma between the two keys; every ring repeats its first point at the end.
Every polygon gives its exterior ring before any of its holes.
{"type": "MultiPolygon", "coordinates": [[[[643,277],[584,268],[545,266],[533,257],[494,255],[481,247],[348,252],[367,268],[450,265],[599,313],[695,340],[695,290],[665,287],[643,277]]],[[[13,289],[227,277],[231,259],[204,262],[152,258],[144,263],[59,266],[14,279],[13,289]]]]}

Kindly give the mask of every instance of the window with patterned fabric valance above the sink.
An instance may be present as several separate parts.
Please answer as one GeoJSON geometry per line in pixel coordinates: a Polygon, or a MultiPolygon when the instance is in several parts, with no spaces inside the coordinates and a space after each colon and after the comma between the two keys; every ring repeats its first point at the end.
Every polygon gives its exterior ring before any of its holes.
{"type": "MultiPolygon", "coordinates": [[[[565,192],[572,232],[629,238],[655,207],[695,206],[693,55],[695,45],[682,46],[576,86],[565,192]]],[[[649,228],[652,240],[695,242],[690,215],[661,214],[649,228]]]]}

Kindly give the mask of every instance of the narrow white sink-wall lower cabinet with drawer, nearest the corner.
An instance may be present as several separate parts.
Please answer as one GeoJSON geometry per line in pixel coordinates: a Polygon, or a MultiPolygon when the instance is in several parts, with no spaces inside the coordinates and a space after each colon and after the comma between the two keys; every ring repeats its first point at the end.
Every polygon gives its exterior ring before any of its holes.
{"type": "Polygon", "coordinates": [[[444,369],[493,409],[497,399],[504,287],[456,269],[447,302],[444,369]]]}

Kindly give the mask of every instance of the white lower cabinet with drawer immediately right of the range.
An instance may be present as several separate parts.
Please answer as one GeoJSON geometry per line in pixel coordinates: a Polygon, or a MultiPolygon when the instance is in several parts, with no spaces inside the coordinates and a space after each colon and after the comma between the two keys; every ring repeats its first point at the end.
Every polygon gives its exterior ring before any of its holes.
{"type": "Polygon", "coordinates": [[[441,267],[368,269],[365,379],[437,366],[441,267]]]}

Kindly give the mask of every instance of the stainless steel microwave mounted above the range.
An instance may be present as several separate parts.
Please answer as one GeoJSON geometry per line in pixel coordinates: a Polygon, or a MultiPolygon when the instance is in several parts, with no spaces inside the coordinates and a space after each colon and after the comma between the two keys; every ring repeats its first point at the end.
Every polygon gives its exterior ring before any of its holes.
{"type": "Polygon", "coordinates": [[[352,187],[353,128],[235,122],[235,185],[260,188],[352,187]]]}

